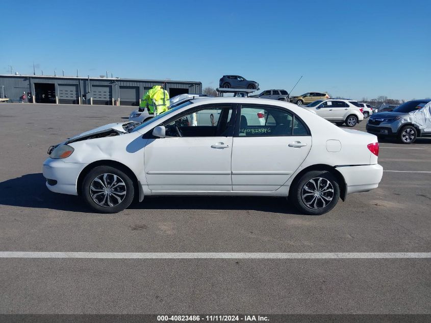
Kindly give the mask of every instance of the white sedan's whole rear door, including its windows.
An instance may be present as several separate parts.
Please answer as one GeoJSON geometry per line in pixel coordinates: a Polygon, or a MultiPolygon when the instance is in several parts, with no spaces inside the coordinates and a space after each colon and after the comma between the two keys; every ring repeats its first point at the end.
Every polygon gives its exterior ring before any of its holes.
{"type": "Polygon", "coordinates": [[[307,157],[312,140],[307,126],[286,109],[242,105],[232,150],[234,191],[274,191],[307,157]],[[265,115],[261,122],[253,113],[265,115]]]}

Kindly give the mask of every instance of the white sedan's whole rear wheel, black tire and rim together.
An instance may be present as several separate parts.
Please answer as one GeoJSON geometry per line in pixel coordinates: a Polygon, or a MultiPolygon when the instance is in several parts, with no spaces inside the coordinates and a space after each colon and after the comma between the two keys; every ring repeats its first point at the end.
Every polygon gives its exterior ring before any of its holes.
{"type": "Polygon", "coordinates": [[[331,172],[312,170],[302,175],[293,185],[290,194],[290,201],[300,212],[321,215],[335,207],[340,198],[340,187],[331,172]],[[318,192],[318,195],[313,195],[313,191],[318,192]]]}

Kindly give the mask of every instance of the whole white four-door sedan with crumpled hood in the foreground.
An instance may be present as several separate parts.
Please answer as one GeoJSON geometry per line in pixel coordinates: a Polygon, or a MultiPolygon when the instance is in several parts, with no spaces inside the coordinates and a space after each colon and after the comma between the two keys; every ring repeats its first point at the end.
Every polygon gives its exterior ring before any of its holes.
{"type": "Polygon", "coordinates": [[[48,189],[80,195],[105,213],[151,195],[255,195],[289,197],[301,212],[322,214],[348,193],[376,188],[383,174],[376,136],[256,98],[188,101],[141,124],[85,132],[48,153],[48,189]],[[214,110],[200,125],[196,115],[214,110]]]}

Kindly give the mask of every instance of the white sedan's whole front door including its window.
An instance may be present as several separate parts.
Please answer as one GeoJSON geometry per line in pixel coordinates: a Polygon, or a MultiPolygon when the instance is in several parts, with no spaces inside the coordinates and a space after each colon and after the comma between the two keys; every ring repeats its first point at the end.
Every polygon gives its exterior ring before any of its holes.
{"type": "Polygon", "coordinates": [[[167,137],[150,139],[145,147],[148,188],[231,191],[233,110],[229,105],[209,105],[164,122],[167,137]]]}

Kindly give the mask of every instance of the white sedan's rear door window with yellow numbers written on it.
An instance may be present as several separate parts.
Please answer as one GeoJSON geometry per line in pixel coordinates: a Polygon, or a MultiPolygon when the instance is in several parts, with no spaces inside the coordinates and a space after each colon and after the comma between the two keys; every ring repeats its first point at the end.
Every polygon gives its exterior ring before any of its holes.
{"type": "Polygon", "coordinates": [[[273,137],[291,136],[293,131],[293,115],[285,110],[242,106],[239,137],[273,137]]]}

